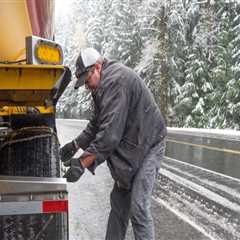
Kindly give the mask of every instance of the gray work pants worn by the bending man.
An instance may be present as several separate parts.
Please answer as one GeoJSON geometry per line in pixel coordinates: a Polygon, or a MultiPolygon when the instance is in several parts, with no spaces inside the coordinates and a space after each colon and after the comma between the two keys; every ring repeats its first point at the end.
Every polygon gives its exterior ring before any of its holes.
{"type": "Polygon", "coordinates": [[[150,150],[130,190],[114,184],[105,240],[124,240],[129,219],[135,240],[155,240],[151,196],[164,150],[164,142],[150,150]]]}

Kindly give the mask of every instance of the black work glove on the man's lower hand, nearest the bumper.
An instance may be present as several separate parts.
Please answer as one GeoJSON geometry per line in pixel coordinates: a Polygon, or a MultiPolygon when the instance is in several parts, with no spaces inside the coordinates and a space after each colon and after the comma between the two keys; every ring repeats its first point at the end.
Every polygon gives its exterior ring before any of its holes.
{"type": "Polygon", "coordinates": [[[72,158],[69,161],[66,161],[64,166],[70,167],[63,176],[68,182],[78,181],[85,172],[85,169],[82,166],[79,158],[72,158]]]}

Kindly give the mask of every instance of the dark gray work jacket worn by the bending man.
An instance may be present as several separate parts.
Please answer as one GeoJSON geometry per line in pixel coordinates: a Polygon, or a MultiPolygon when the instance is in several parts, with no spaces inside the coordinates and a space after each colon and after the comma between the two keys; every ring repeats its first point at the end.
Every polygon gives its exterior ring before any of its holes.
{"type": "Polygon", "coordinates": [[[104,62],[92,97],[93,117],[76,141],[97,156],[92,173],[107,160],[112,177],[129,188],[144,157],[167,134],[163,117],[143,80],[117,62],[104,62]]]}

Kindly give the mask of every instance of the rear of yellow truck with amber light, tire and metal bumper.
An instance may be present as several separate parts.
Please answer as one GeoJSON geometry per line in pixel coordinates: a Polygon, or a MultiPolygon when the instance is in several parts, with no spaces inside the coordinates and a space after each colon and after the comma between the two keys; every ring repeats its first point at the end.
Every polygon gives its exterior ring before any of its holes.
{"type": "Polygon", "coordinates": [[[68,239],[55,106],[71,79],[53,0],[0,1],[0,239],[68,239]]]}

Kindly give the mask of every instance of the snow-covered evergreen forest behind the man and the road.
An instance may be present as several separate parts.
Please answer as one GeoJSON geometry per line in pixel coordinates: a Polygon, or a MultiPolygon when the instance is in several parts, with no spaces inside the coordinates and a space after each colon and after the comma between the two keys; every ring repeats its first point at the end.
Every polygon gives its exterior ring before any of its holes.
{"type": "MultiPolygon", "coordinates": [[[[240,130],[239,0],[66,2],[56,40],[73,72],[80,49],[94,47],[140,74],[168,126],[240,130]]],[[[57,115],[86,119],[90,93],[72,85],[57,115]]]]}

